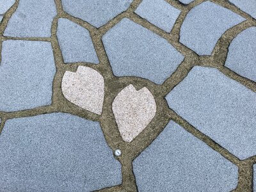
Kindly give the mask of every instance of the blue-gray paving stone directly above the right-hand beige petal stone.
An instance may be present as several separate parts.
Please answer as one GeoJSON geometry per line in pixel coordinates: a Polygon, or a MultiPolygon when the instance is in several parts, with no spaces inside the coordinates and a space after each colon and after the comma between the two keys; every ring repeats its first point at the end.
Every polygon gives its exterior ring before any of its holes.
{"type": "Polygon", "coordinates": [[[122,19],[102,41],[116,76],[138,76],[161,84],[184,56],[152,31],[122,19]]]}

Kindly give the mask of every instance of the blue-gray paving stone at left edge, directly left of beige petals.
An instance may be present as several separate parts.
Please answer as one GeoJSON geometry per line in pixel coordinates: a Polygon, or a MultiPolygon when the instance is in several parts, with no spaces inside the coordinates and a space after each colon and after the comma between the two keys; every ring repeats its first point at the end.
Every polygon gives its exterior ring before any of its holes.
{"type": "Polygon", "coordinates": [[[0,111],[51,104],[55,72],[51,43],[4,41],[0,65],[0,111]]]}

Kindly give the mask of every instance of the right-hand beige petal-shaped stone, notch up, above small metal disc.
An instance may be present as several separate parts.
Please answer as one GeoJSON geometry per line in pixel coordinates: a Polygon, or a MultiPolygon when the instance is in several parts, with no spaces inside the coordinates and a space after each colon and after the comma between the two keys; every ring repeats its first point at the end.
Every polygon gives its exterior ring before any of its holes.
{"type": "Polygon", "coordinates": [[[130,84],[118,93],[112,109],[123,140],[131,142],[156,115],[156,101],[146,87],[137,91],[130,84]]]}

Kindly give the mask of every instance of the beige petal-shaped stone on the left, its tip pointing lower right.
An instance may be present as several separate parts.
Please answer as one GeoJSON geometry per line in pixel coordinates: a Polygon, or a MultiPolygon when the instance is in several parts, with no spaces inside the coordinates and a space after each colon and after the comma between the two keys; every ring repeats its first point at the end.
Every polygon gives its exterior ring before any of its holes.
{"type": "Polygon", "coordinates": [[[70,102],[92,113],[101,114],[104,79],[96,70],[79,66],[76,72],[66,71],[61,89],[64,97],[70,102]]]}

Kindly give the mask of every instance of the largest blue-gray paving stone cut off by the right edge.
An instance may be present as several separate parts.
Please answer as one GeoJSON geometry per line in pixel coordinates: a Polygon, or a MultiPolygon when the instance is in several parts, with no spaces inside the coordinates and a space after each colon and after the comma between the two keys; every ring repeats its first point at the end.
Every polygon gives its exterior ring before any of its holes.
{"type": "Polygon", "coordinates": [[[170,108],[239,159],[256,155],[256,93],[217,69],[194,67],[166,96],[170,108]]]}

